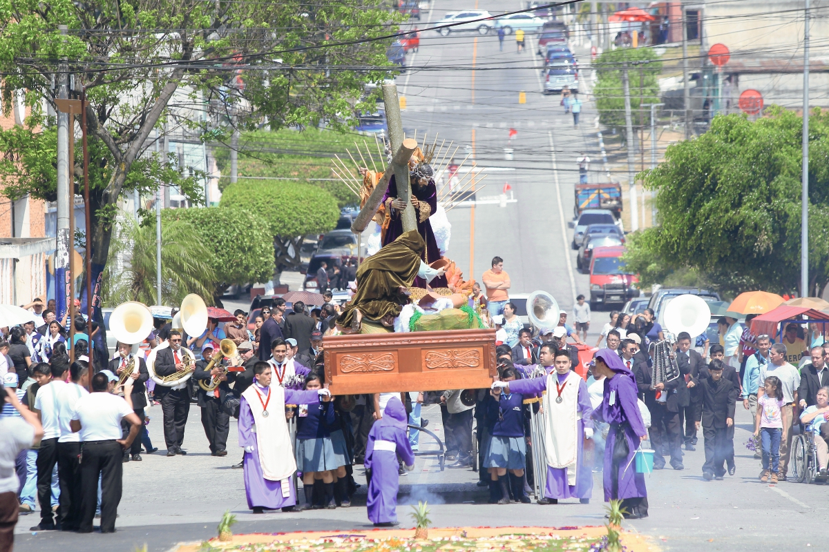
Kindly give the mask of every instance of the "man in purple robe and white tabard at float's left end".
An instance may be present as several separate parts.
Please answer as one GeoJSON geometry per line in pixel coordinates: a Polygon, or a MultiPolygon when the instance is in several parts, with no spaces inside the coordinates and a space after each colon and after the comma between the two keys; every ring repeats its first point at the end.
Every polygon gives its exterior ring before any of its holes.
{"type": "Polygon", "coordinates": [[[242,393],[239,446],[245,448],[245,493],[255,514],[265,509],[293,509],[297,503],[291,476],[297,471],[285,420],[285,403],[317,405],[327,389],[293,391],[271,385],[268,362],[254,364],[254,382],[242,393]]]}

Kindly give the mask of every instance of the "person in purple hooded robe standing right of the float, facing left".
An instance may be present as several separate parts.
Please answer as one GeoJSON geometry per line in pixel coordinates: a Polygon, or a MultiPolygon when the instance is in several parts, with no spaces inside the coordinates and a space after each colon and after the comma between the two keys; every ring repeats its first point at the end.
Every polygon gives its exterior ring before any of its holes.
{"type": "Polygon", "coordinates": [[[594,374],[604,376],[604,398],[594,418],[610,424],[604,449],[604,502],[621,499],[628,519],[647,517],[645,476],[637,473],[634,455],[647,429],[637,404],[633,372],[615,351],[599,349],[594,374]]]}

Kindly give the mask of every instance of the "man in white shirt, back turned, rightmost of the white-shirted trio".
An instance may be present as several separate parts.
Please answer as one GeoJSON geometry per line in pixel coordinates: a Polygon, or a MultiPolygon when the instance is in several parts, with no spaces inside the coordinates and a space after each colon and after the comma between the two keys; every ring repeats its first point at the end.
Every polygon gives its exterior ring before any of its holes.
{"type": "Polygon", "coordinates": [[[72,410],[72,431],[80,433],[81,515],[79,533],[91,533],[98,503],[98,479],[101,480],[101,533],[115,532],[115,517],[121,502],[124,473],[122,461],[138,430],[141,420],[133,411],[130,393],[133,380],[127,378],[124,398],[109,393],[109,377],[97,373],[92,377],[92,392],[83,396],[72,410]],[[130,424],[129,434],[122,439],[121,419],[130,424]]]}

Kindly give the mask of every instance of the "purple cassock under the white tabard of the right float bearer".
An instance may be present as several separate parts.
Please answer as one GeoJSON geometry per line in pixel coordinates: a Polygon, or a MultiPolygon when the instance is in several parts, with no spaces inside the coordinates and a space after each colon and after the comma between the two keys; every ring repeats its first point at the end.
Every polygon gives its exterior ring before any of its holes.
{"type": "MultiPolygon", "coordinates": [[[[558,377],[559,383],[564,381],[563,377],[558,374],[553,374],[553,377],[558,377]]],[[[565,376],[566,377],[566,376],[565,376]]],[[[541,396],[541,391],[547,390],[547,377],[533,377],[526,380],[516,380],[510,382],[510,391],[513,393],[531,394],[541,396]]],[[[580,439],[576,439],[576,478],[575,485],[569,485],[567,482],[568,468],[551,468],[547,466],[547,484],[544,489],[544,496],[547,498],[589,498],[593,494],[593,468],[584,466],[582,458],[584,454],[584,428],[593,429],[593,406],[590,404],[590,396],[587,392],[587,383],[579,378],[579,396],[576,399],[577,410],[581,413],[581,420],[576,423],[579,425],[580,439]]]]}

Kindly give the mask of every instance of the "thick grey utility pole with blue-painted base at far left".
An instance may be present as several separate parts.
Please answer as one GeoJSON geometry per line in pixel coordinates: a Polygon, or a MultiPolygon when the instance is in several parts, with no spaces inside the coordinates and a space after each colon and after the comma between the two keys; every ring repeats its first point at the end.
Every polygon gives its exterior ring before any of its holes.
{"type": "MultiPolygon", "coordinates": [[[[67,34],[67,26],[59,25],[61,34],[67,34]]],[[[69,67],[65,60],[58,66],[59,99],[69,99],[69,67]]],[[[68,308],[66,305],[66,284],[71,276],[69,265],[69,246],[71,231],[69,213],[71,195],[69,190],[69,113],[57,110],[57,235],[55,252],[55,307],[58,321],[63,319],[68,308]]]]}

